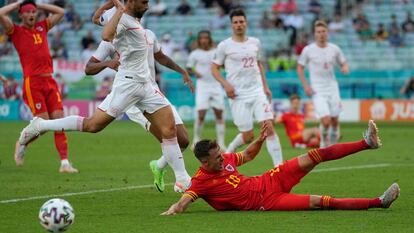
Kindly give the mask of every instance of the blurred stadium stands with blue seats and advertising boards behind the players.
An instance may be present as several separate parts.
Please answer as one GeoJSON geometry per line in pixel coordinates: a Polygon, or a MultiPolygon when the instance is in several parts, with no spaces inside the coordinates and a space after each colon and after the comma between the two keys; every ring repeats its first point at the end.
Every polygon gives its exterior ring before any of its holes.
{"type": "MultiPolygon", "coordinates": [[[[12,1],[0,0],[0,5],[9,2],[12,1]]],[[[93,25],[91,17],[104,1],[37,2],[52,2],[66,9],[62,23],[49,33],[54,74],[62,83],[66,114],[89,115],[97,101],[109,92],[114,77],[110,70],[96,77],[85,77],[83,72],[85,62],[101,40],[102,28],[93,25]]],[[[286,108],[289,94],[305,97],[295,71],[296,60],[304,45],[312,42],[313,22],[324,19],[331,29],[330,40],[343,49],[351,69],[349,75],[337,74],[344,100],[342,120],[414,120],[411,0],[151,0],[150,6],[143,19],[145,27],[156,33],[164,53],[183,66],[199,30],[210,29],[218,43],[231,35],[227,13],[232,8],[244,8],[248,34],[262,41],[276,112],[286,108]],[[408,88],[403,88],[405,85],[408,88]]],[[[17,15],[14,19],[18,20],[17,15]]],[[[184,120],[192,120],[194,96],[181,85],[179,74],[158,68],[164,93],[184,120]]],[[[14,77],[21,86],[18,55],[1,29],[0,74],[14,77]]],[[[0,120],[31,118],[20,100],[7,100],[3,88],[0,92],[0,120]]],[[[312,106],[307,101],[304,111],[308,119],[313,119],[312,106]]]]}

